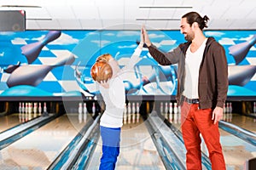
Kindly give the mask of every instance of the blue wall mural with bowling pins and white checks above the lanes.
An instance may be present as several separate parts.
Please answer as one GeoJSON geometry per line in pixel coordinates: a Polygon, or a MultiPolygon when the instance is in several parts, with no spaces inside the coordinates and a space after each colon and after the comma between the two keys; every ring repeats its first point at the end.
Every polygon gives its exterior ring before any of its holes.
{"type": "MultiPolygon", "coordinates": [[[[148,31],[162,51],[184,42],[180,31],[148,31]]],[[[205,31],[224,46],[229,66],[228,96],[256,96],[256,31],[205,31]]],[[[140,31],[0,32],[0,97],[93,96],[90,66],[112,54],[124,66],[140,31]]],[[[143,48],[125,80],[129,95],[175,95],[177,65],[162,66],[143,48]]]]}

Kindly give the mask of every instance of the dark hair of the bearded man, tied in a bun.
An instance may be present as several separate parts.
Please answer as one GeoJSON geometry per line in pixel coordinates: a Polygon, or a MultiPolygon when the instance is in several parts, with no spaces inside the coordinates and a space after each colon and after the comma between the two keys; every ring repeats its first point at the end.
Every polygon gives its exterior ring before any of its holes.
{"type": "Polygon", "coordinates": [[[198,26],[201,30],[208,27],[207,22],[208,22],[209,18],[207,17],[207,15],[205,15],[202,18],[201,15],[196,13],[196,12],[189,12],[187,14],[184,14],[182,18],[187,19],[187,22],[189,23],[189,26],[192,26],[192,24],[194,22],[197,22],[198,26]]]}

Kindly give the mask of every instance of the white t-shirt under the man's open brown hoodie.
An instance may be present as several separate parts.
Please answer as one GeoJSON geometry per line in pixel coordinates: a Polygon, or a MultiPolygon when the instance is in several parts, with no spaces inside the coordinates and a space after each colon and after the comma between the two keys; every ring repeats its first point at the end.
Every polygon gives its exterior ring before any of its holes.
{"type": "Polygon", "coordinates": [[[198,79],[201,59],[206,48],[207,39],[202,42],[200,48],[194,53],[191,52],[190,46],[186,52],[185,59],[185,82],[183,95],[189,99],[198,99],[198,79]]]}

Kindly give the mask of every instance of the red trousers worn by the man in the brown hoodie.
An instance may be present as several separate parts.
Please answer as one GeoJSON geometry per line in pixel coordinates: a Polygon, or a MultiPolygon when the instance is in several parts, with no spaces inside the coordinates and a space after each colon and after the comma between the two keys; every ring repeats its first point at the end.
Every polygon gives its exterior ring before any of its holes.
{"type": "Polygon", "coordinates": [[[200,133],[207,144],[212,170],[225,169],[222,147],[219,143],[218,123],[213,124],[212,109],[199,110],[198,106],[183,102],[181,107],[187,169],[202,169],[200,133]]]}

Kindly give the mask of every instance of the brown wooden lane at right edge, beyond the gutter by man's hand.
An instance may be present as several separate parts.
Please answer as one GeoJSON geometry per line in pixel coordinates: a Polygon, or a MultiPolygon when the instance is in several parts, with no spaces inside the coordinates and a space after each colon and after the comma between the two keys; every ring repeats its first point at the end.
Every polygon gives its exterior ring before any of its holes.
{"type": "Polygon", "coordinates": [[[256,133],[256,119],[237,113],[224,113],[224,121],[256,133]]]}

